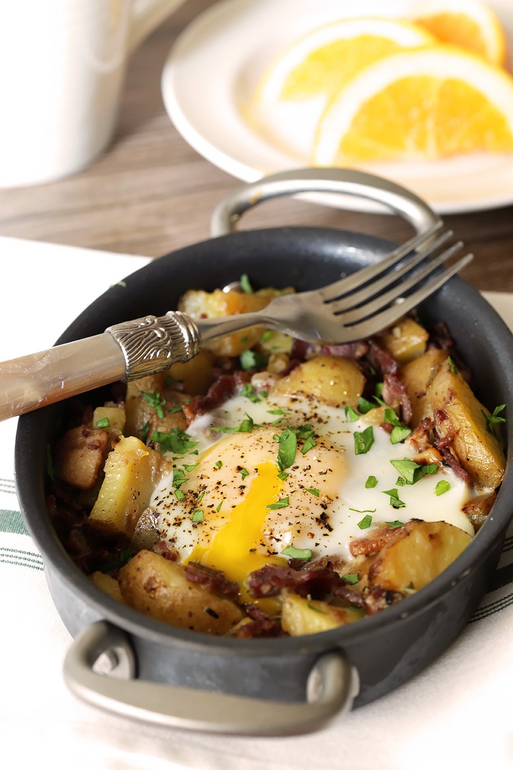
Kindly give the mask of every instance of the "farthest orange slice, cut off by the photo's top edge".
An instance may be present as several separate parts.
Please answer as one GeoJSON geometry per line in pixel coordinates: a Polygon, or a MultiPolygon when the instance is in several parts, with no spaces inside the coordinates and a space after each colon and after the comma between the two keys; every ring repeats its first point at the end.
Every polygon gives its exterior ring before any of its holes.
{"type": "Polygon", "coordinates": [[[412,18],[441,42],[461,46],[492,64],[505,64],[501,22],[480,0],[424,0],[412,18]]]}

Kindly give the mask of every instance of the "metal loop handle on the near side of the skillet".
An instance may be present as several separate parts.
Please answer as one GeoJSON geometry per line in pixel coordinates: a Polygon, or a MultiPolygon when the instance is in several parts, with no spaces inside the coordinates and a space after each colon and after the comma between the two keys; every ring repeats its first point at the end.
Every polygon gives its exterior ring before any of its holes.
{"type": "Polygon", "coordinates": [[[74,695],[105,711],[168,727],[231,735],[298,735],[315,730],[349,711],[358,692],[357,675],[339,652],[318,658],[308,676],[305,703],[142,681],[135,678],[135,653],[128,635],[107,621],[78,634],[66,654],[63,673],[74,695]],[[93,671],[102,653],[114,664],[113,675],[93,671]]]}

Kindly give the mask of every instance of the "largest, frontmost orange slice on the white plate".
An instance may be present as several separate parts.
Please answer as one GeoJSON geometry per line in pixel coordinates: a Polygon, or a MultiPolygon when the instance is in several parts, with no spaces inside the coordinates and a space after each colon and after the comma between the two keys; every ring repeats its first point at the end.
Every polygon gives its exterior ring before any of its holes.
{"type": "Polygon", "coordinates": [[[513,151],[513,79],[449,45],[393,54],[356,75],[318,125],[319,166],[513,151]]]}

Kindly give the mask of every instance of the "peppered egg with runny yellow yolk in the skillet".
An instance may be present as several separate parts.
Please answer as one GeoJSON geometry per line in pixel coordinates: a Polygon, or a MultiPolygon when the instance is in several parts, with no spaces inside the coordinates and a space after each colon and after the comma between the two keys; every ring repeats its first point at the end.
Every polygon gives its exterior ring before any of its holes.
{"type": "Polygon", "coordinates": [[[473,534],[461,511],[471,492],[450,468],[405,484],[391,460],[415,451],[374,427],[374,443],[355,454],[355,433],[366,428],[312,397],[231,398],[191,423],[189,454],[172,457],[155,490],[160,536],[180,563],[222,570],[245,599],[250,572],[291,557],[349,560],[351,541],[382,522],[446,521],[473,534]],[[284,431],[298,435],[288,467],[278,464],[284,431]],[[444,494],[435,492],[440,480],[444,494]]]}

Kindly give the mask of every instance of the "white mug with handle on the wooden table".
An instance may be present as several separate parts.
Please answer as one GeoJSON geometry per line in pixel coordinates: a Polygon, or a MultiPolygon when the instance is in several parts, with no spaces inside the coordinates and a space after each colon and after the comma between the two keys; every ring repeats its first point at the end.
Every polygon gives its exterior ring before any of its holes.
{"type": "Polygon", "coordinates": [[[130,53],[183,0],[0,0],[0,187],[88,165],[130,53]]]}

